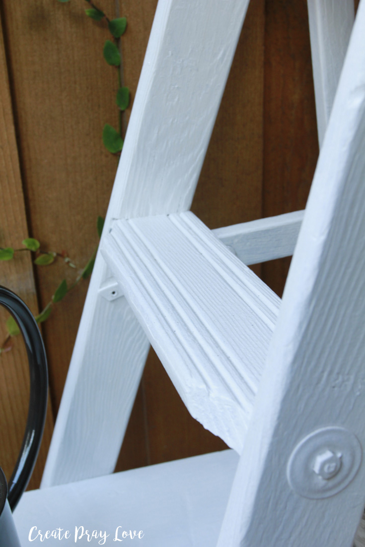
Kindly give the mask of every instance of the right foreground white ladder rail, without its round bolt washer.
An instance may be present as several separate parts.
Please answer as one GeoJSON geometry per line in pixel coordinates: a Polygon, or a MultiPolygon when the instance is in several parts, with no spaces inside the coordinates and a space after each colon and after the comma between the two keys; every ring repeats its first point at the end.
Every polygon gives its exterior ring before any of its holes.
{"type": "Polygon", "coordinates": [[[361,2],[219,547],[350,547],[365,505],[363,463],[327,499],[287,480],[292,451],[318,428],[349,430],[364,453],[364,28],[361,2]]]}

